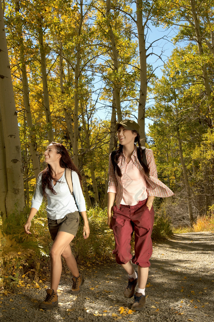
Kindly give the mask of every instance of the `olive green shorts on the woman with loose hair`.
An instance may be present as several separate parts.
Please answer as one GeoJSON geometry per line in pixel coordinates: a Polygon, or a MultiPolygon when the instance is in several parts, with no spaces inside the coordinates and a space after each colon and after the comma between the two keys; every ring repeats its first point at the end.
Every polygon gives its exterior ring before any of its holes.
{"type": "Polygon", "coordinates": [[[58,232],[68,232],[76,236],[80,223],[80,215],[78,211],[67,213],[64,218],[50,219],[48,218],[48,228],[51,239],[54,241],[58,232]]]}

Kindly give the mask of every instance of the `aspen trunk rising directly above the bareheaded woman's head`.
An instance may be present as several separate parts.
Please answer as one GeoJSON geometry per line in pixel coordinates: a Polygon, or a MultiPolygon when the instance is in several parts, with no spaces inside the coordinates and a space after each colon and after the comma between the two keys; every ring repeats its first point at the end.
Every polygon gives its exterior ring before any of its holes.
{"type": "Polygon", "coordinates": [[[47,78],[47,71],[46,71],[46,57],[45,57],[45,49],[44,49],[42,21],[40,21],[40,25],[41,26],[39,29],[39,51],[40,51],[40,59],[41,59],[41,76],[42,76],[42,85],[43,85],[44,112],[45,112],[46,122],[48,125],[48,140],[49,142],[52,142],[54,138],[53,138],[50,103],[49,103],[48,78],[47,78]]]}

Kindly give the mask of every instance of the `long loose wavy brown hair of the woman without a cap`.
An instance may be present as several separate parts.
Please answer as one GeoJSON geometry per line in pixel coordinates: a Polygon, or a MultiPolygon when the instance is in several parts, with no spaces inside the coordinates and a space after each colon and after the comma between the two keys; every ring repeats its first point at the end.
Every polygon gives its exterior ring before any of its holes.
{"type": "MultiPolygon", "coordinates": [[[[60,162],[59,162],[60,166],[62,168],[68,168],[72,171],[75,171],[78,174],[78,177],[80,179],[80,185],[82,187],[82,176],[81,176],[79,170],[77,169],[77,167],[74,165],[66,148],[61,143],[51,142],[50,144],[54,145],[57,154],[61,154],[61,158],[60,158],[60,162]]],[[[51,167],[48,164],[48,166],[42,171],[42,192],[43,192],[44,196],[46,196],[46,193],[45,193],[46,186],[48,187],[48,189],[51,190],[51,192],[53,194],[57,194],[53,189],[52,180],[55,182],[58,181],[56,178],[52,177],[51,167]]]]}

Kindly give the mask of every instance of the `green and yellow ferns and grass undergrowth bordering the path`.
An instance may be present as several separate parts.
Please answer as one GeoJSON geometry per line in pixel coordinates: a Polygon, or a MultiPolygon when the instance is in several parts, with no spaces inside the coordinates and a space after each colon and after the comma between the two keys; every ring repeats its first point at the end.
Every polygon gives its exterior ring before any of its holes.
{"type": "MultiPolygon", "coordinates": [[[[24,209],[23,213],[11,217],[12,220],[7,226],[6,233],[3,232],[2,223],[0,230],[0,287],[3,289],[13,289],[24,286],[24,280],[31,280],[39,287],[39,281],[46,279],[50,271],[49,250],[52,244],[50,238],[45,203],[42,204],[39,212],[32,220],[31,235],[24,234],[24,223],[29,209],[24,209]]],[[[71,243],[72,252],[76,257],[78,265],[85,263],[102,262],[112,259],[114,249],[114,237],[112,230],[107,226],[107,209],[95,206],[87,212],[90,237],[83,239],[83,223],[76,238],[71,243]]],[[[180,227],[173,230],[170,219],[164,212],[156,211],[155,223],[152,232],[152,240],[158,241],[171,237],[173,232],[190,231],[214,231],[214,215],[200,217],[193,228],[180,227]]],[[[134,236],[132,237],[133,250],[134,236]]],[[[25,283],[26,284],[26,283],[25,283]]]]}

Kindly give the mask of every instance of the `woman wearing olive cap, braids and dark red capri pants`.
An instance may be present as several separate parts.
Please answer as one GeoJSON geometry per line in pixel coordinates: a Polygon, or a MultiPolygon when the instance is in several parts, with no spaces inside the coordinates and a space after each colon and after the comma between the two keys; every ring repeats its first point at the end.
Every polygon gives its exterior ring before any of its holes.
{"type": "Polygon", "coordinates": [[[152,254],[154,197],[174,195],[157,178],[152,150],[141,148],[139,128],[138,123],[129,119],[117,123],[115,131],[120,144],[118,150],[109,156],[108,225],[114,233],[115,259],[129,275],[124,296],[131,298],[134,295],[133,310],[141,310],[145,305],[145,286],[152,254]],[[134,256],[130,252],[133,232],[134,256]],[[133,269],[131,261],[138,265],[138,272],[133,269]]]}

